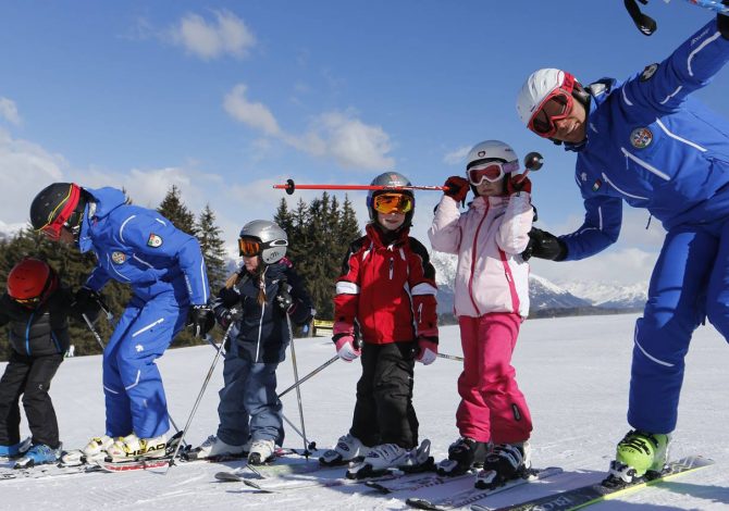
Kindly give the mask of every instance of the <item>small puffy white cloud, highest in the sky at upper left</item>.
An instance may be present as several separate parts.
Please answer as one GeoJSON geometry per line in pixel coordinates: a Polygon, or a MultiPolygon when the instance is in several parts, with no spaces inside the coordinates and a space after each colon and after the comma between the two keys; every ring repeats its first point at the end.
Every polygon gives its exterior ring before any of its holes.
{"type": "Polygon", "coordinates": [[[231,54],[243,59],[256,46],[256,36],[228,11],[214,11],[214,21],[187,14],[171,29],[172,41],[203,60],[231,54]]]}

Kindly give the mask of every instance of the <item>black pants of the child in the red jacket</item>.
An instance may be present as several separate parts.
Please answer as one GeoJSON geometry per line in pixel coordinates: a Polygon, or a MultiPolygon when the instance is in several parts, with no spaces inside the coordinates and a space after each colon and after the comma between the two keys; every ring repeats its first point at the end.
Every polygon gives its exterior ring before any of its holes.
{"type": "Polygon", "coordinates": [[[350,433],[366,446],[418,446],[418,417],[412,408],[413,342],[362,346],[362,376],[350,433]]]}

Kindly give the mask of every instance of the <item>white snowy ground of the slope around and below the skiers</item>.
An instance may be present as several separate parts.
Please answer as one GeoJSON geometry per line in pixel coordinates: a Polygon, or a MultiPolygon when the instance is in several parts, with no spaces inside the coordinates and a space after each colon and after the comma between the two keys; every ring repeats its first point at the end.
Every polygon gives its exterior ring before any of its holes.
{"type": "MultiPolygon", "coordinates": [[[[625,420],[634,315],[582,316],[528,321],[515,354],[518,381],[534,420],[533,461],[536,466],[559,465],[565,474],[528,485],[482,501],[506,506],[529,497],[579,486],[597,478],[607,468],[615,444],[627,432],[625,420]]],[[[441,351],[459,354],[456,326],[441,331],[441,351]]],[[[169,351],[160,361],[175,422],[182,427],[193,407],[213,358],[210,347],[169,351]]],[[[334,354],[324,338],[296,342],[299,376],[334,354]]],[[[671,483],[640,491],[595,509],[729,509],[729,404],[727,402],[729,349],[712,328],[695,335],[681,399],[675,458],[704,454],[714,458],[713,469],[689,474],[671,483]]],[[[3,364],[0,364],[0,370],[3,364]]],[[[420,433],[433,443],[435,458],[442,458],[456,438],[454,414],[458,403],[456,378],[460,364],[438,359],[433,365],[418,365],[416,410],[420,433]]],[[[291,361],[279,371],[280,389],[293,382],[291,361]]],[[[67,359],[52,386],[62,439],[78,447],[103,431],[103,399],[99,357],[67,359]]],[[[320,447],[345,433],[353,411],[358,364],[337,361],[302,386],[307,436],[320,447]]],[[[218,416],[217,390],[222,383],[222,363],[195,416],[189,441],[199,444],[214,434],[218,416]]],[[[298,425],[295,392],[284,398],[285,414],[298,425]]],[[[25,428],[25,426],[23,426],[25,428]]],[[[300,447],[297,435],[287,429],[287,446],[300,447]]],[[[364,486],[308,488],[275,495],[258,494],[235,483],[221,484],[213,474],[240,462],[195,463],[163,471],[122,474],[87,474],[46,479],[0,482],[0,509],[12,510],[400,510],[409,495],[382,496],[364,486]]],[[[450,488],[464,488],[461,483],[450,488]]],[[[435,497],[446,486],[419,493],[435,497]]]]}

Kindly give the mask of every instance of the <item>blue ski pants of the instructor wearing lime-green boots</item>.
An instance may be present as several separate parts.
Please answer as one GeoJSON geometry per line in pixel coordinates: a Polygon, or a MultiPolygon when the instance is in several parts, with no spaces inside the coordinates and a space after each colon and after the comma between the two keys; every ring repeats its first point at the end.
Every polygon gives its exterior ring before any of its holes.
{"type": "Polygon", "coordinates": [[[668,232],[643,317],[635,323],[628,422],[648,433],[676,428],[684,358],[708,321],[729,339],[729,220],[668,232]]]}

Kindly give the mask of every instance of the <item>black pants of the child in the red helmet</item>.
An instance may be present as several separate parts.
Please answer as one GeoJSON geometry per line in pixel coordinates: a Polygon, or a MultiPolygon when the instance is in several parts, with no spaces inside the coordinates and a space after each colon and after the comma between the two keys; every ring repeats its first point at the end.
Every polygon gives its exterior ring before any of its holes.
{"type": "Polygon", "coordinates": [[[12,446],[21,441],[17,403],[23,395],[33,444],[59,446],[59,426],[48,389],[61,362],[62,354],[25,357],[13,351],[0,378],[0,445],[12,446]]]}

